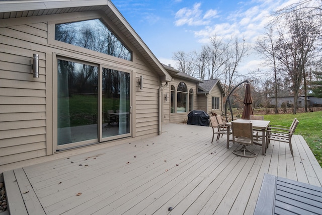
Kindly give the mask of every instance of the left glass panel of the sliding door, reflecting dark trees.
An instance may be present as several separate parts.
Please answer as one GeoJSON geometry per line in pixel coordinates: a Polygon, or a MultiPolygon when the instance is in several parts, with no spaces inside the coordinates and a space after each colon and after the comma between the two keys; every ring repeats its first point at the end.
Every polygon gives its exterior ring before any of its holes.
{"type": "Polygon", "coordinates": [[[58,59],[57,145],[98,141],[98,66],[58,59]]]}

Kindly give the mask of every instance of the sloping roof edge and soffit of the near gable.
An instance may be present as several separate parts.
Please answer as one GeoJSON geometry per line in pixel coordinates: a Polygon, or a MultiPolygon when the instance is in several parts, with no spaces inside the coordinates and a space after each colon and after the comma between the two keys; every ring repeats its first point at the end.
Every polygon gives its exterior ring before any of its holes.
{"type": "MultiPolygon", "coordinates": [[[[102,11],[133,44],[143,58],[156,71],[161,81],[172,80],[166,69],[138,36],[110,0],[26,0],[0,1],[0,19],[33,17],[83,11],[102,11]]],[[[0,27],[2,27],[0,22],[0,27]]]]}

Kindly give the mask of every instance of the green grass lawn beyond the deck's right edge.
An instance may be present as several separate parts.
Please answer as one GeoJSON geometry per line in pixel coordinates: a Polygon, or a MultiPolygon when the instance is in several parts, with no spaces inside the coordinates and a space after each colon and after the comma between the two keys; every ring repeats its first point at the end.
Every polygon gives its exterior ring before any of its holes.
{"type": "Polygon", "coordinates": [[[294,118],[297,118],[299,121],[295,134],[304,137],[316,160],[322,167],[322,111],[264,115],[264,120],[270,120],[271,124],[285,126],[290,126],[294,118]]]}

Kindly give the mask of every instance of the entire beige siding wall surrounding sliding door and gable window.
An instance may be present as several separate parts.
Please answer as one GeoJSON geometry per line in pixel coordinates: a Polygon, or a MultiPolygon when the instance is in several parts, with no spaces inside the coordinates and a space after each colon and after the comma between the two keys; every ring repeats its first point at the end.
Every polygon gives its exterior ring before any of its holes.
{"type": "MultiPolygon", "coordinates": [[[[91,16],[93,14],[94,12],[91,12],[91,16]]],[[[99,15],[101,14],[97,14],[99,15]]],[[[0,165],[43,157],[55,152],[55,54],[130,71],[132,136],[144,138],[158,133],[158,89],[162,84],[156,72],[142,60],[143,57],[130,41],[125,40],[124,35],[120,35],[120,38],[133,50],[133,61],[97,54],[91,50],[84,52],[82,48],[67,46],[68,44],[62,46],[47,38],[47,35],[54,33],[49,30],[49,25],[52,25],[55,19],[61,21],[63,17],[70,19],[72,16],[64,14],[18,18],[19,22],[17,19],[5,20],[6,24],[0,25],[8,26],[0,27],[0,165]],[[48,25],[44,22],[47,18],[50,22],[48,25]],[[30,24],[30,20],[35,23],[30,24]],[[12,23],[15,26],[11,27],[12,23]],[[39,54],[39,79],[33,78],[31,74],[30,62],[33,53],[39,54]],[[142,90],[138,85],[141,75],[142,90]]],[[[114,24],[110,24],[115,27],[114,24]]],[[[119,32],[117,29],[114,31],[119,32]]],[[[124,140],[113,140],[112,144],[118,142],[124,140]]]]}

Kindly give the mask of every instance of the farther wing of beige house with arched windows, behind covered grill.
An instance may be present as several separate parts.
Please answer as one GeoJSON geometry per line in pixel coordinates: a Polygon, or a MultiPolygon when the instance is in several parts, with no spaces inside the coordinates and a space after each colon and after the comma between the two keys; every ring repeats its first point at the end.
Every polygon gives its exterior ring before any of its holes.
{"type": "Polygon", "coordinates": [[[222,99],[225,94],[218,79],[200,81],[170,65],[163,66],[172,77],[172,81],[163,90],[164,123],[183,122],[192,110],[203,110],[209,115],[211,112],[222,114],[222,99]]]}

